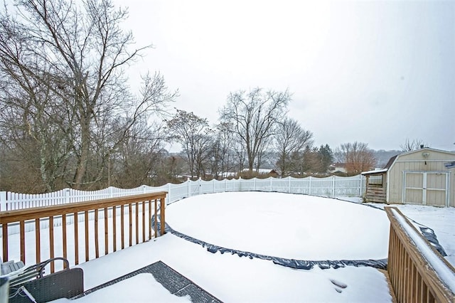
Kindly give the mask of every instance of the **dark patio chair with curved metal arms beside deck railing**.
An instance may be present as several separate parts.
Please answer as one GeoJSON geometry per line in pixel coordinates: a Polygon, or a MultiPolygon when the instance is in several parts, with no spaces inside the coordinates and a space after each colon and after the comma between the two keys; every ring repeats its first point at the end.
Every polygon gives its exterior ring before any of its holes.
{"type": "Polygon", "coordinates": [[[84,277],[81,268],[69,268],[68,260],[56,257],[12,272],[9,281],[9,302],[48,302],[60,298],[71,298],[84,292],[84,277]],[[65,269],[44,275],[50,262],[63,260],[65,269]]]}

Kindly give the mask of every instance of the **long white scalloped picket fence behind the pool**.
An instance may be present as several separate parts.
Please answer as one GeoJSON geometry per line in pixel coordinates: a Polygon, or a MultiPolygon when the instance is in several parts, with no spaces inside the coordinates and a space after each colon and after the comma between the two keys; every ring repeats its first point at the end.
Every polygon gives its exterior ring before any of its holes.
{"type": "Polygon", "coordinates": [[[282,193],[301,193],[313,196],[362,196],[365,191],[365,176],[351,177],[329,176],[326,178],[293,178],[284,179],[224,179],[221,181],[188,180],[181,184],[164,186],[139,186],[137,188],[109,187],[100,191],[78,191],[65,188],[53,193],[26,194],[0,191],[0,211],[11,211],[21,208],[51,206],[64,203],[131,196],[139,193],[167,191],[166,203],[172,203],[189,196],[203,193],[222,193],[225,191],[278,191],[282,193]]]}

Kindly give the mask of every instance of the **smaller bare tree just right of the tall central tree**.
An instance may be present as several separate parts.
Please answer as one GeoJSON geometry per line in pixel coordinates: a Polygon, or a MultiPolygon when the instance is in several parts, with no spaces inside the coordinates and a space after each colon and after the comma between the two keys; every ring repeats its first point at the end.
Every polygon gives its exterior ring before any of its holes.
{"type": "Polygon", "coordinates": [[[285,176],[293,167],[292,156],[301,154],[306,146],[313,144],[313,133],[302,129],[296,120],[286,118],[277,124],[274,139],[274,149],[278,152],[277,166],[285,176]]]}

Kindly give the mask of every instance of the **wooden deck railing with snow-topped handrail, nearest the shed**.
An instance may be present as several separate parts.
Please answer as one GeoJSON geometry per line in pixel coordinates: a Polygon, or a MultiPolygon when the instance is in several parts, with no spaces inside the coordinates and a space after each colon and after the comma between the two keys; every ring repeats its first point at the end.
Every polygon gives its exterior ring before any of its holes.
{"type": "Polygon", "coordinates": [[[395,207],[387,272],[398,302],[455,302],[455,269],[395,207]]]}

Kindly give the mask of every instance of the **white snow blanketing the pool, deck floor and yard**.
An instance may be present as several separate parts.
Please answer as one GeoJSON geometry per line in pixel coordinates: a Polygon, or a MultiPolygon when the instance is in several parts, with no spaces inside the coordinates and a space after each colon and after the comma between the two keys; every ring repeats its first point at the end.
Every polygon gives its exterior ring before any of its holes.
{"type": "MultiPolygon", "coordinates": [[[[449,255],[447,260],[453,260],[454,208],[399,208],[433,228],[449,255]]],[[[301,260],[387,257],[389,223],[385,212],[336,199],[286,193],[215,193],[171,204],[166,208],[166,220],[174,230],[199,240],[264,255],[301,260]]],[[[85,289],[90,289],[158,260],[224,302],[392,300],[385,276],[372,267],[294,270],[269,260],[208,252],[170,233],[78,267],[84,270],[85,289]]],[[[149,275],[128,280],[76,302],[188,300],[174,297],[164,287],[157,290],[160,285],[149,275]]]]}

